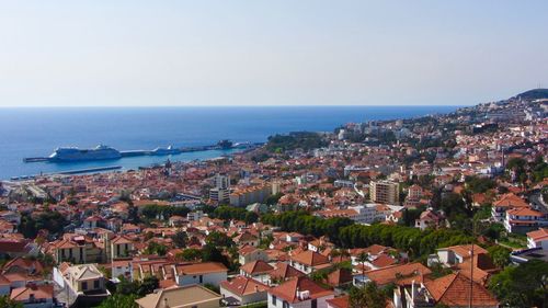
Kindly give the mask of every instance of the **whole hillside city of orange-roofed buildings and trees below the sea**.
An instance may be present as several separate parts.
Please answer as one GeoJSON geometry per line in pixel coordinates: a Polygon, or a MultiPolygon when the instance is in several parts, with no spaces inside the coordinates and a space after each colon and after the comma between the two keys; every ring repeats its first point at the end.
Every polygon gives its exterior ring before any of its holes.
{"type": "Polygon", "coordinates": [[[4,181],[0,295],[20,307],[541,307],[547,112],[540,89],[217,159],[4,181]]]}

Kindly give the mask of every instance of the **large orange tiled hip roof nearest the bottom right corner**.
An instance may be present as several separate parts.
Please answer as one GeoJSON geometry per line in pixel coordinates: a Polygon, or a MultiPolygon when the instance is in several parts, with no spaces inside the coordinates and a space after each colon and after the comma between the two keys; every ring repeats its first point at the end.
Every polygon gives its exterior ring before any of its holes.
{"type": "Polygon", "coordinates": [[[427,281],[424,286],[435,299],[447,306],[467,307],[470,303],[470,285],[472,285],[472,306],[492,307],[498,306],[499,301],[480,284],[461,275],[449,274],[434,281],[427,281]]]}

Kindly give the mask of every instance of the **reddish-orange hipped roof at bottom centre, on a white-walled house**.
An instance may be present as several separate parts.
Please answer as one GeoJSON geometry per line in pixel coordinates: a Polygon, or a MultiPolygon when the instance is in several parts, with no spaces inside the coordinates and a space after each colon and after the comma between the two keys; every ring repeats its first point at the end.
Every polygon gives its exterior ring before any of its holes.
{"type": "Polygon", "coordinates": [[[269,293],[285,299],[288,303],[299,303],[301,300],[315,299],[334,294],[331,289],[323,288],[307,276],[292,278],[276,287],[271,288],[269,293]],[[309,297],[306,299],[299,298],[297,290],[308,290],[309,297]]]}

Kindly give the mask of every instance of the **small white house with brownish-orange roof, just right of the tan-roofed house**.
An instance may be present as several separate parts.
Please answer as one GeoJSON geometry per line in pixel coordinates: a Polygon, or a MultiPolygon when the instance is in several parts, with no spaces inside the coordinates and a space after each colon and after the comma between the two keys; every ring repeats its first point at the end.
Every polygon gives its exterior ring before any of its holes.
{"type": "Polygon", "coordinates": [[[220,283],[220,294],[228,303],[248,305],[266,301],[269,286],[250,277],[236,276],[231,281],[220,283]]]}

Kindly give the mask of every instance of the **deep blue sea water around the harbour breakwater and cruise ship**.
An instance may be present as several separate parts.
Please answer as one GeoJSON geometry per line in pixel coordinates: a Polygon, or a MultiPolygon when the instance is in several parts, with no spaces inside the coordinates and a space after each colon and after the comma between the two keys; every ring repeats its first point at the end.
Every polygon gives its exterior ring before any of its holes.
{"type": "MultiPolygon", "coordinates": [[[[136,169],[168,157],[114,161],[33,162],[61,146],[118,150],[213,145],[220,139],[263,142],[273,134],[333,130],[349,122],[447,113],[457,106],[265,106],[265,107],[52,107],[0,109],[0,179],[76,169],[122,166],[136,169]]],[[[187,152],[172,161],[218,157],[229,151],[187,152]]]]}

